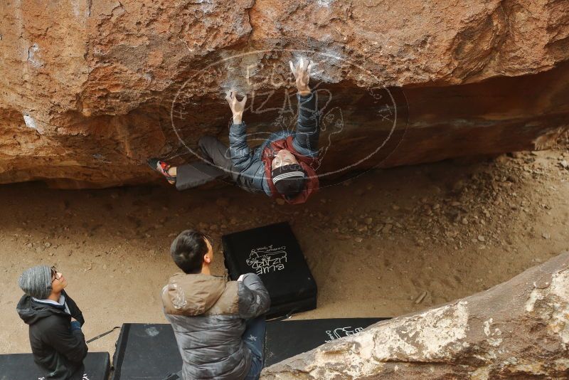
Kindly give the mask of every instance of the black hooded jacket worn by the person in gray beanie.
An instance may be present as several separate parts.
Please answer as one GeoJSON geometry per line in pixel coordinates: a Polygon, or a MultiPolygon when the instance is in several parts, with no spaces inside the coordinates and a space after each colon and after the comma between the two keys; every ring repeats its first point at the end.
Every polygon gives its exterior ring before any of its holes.
{"type": "Polygon", "coordinates": [[[71,317],[83,325],[83,314],[65,291],[65,307],[36,302],[23,295],[16,311],[23,322],[29,324],[30,344],[33,359],[45,369],[46,379],[68,380],[83,378],[83,359],[87,356],[85,336],[80,328],[71,326],[71,317]]]}

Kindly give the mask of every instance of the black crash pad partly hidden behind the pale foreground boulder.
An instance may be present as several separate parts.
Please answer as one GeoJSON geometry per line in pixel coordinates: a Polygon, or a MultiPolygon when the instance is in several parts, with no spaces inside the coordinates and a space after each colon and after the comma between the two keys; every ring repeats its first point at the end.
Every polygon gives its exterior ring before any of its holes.
{"type": "Polygon", "coordinates": [[[331,318],[267,322],[265,366],[310,351],[334,339],[356,334],[388,318],[331,318]]]}

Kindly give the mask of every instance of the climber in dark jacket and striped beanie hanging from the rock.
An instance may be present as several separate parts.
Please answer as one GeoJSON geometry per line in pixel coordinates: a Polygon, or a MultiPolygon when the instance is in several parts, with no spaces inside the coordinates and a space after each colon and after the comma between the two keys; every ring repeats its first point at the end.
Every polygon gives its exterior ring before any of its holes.
{"type": "MultiPolygon", "coordinates": [[[[289,204],[302,204],[317,191],[319,181],[314,167],[318,156],[319,117],[316,95],[309,88],[310,69],[314,63],[299,59],[289,61],[297,85],[298,121],[296,132],[275,132],[257,149],[247,143],[246,126],[242,120],[247,96],[237,100],[230,91],[225,99],[233,112],[229,130],[229,147],[215,137],[202,137],[198,145],[203,156],[223,169],[247,191],[264,191],[268,196],[285,199],[289,204]]],[[[191,164],[172,167],[159,159],[149,159],[152,169],[163,174],[179,190],[195,186],[191,164]]]]}

